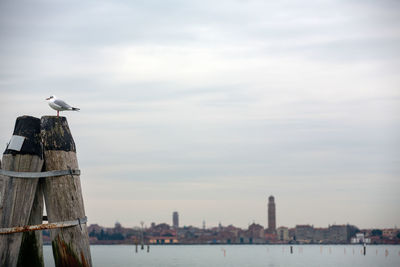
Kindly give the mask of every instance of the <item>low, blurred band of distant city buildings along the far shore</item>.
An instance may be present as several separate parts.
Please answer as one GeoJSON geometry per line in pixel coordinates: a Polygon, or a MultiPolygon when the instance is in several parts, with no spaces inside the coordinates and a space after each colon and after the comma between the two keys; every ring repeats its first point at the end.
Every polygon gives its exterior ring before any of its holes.
{"type": "MultiPolygon", "coordinates": [[[[176,214],[176,213],[174,213],[176,214]]],[[[152,223],[150,227],[114,228],[92,224],[88,227],[91,244],[400,244],[400,229],[359,229],[355,225],[296,225],[264,228],[252,223],[248,228],[234,225],[203,228],[173,227],[152,223]],[[143,235],[143,238],[141,237],[143,235]]],[[[45,234],[49,243],[49,233],[45,234]]]]}

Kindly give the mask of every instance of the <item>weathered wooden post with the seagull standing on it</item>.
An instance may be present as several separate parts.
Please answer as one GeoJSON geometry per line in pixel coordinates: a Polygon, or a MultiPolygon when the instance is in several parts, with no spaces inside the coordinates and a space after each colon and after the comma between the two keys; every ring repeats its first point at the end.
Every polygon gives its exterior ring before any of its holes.
{"type": "MultiPolygon", "coordinates": [[[[78,169],[75,142],[65,117],[41,119],[45,170],[78,169]]],[[[79,176],[58,176],[44,181],[44,198],[49,223],[85,217],[79,176]]],[[[86,224],[50,230],[57,267],[92,266],[86,224]]]]}

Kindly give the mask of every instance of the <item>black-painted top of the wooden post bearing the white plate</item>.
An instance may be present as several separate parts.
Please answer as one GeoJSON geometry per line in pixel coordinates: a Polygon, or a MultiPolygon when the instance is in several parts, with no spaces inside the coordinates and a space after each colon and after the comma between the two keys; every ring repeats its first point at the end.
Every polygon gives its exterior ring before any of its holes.
{"type": "Polygon", "coordinates": [[[40,143],[40,119],[32,116],[20,116],[15,122],[13,135],[25,137],[19,151],[8,149],[4,154],[30,154],[43,158],[42,146],[40,143]]]}

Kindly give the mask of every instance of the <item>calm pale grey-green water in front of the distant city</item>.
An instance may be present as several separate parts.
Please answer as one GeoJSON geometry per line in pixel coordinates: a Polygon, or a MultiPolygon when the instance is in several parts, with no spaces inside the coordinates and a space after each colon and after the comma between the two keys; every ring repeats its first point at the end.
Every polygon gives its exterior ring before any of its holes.
{"type": "MultiPolygon", "coordinates": [[[[289,245],[151,246],[149,253],[140,248],[135,253],[134,246],[126,245],[90,248],[97,267],[400,266],[400,246],[367,246],[366,256],[356,245],[295,245],[293,254],[289,245]]],[[[51,246],[44,246],[44,257],[46,266],[54,266],[51,246]]]]}

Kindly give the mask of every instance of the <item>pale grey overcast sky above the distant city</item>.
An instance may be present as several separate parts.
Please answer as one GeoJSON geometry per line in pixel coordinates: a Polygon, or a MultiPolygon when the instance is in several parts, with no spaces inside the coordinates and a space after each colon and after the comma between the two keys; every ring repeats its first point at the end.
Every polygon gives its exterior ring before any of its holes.
{"type": "Polygon", "coordinates": [[[0,149],[67,116],[89,223],[400,227],[399,1],[1,1],[0,149]]]}

